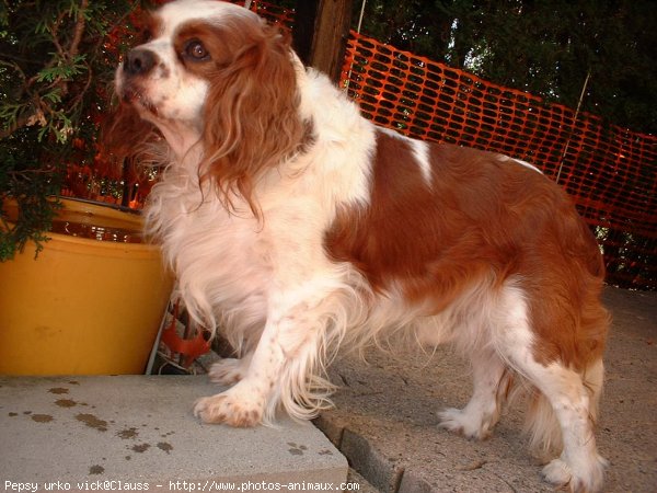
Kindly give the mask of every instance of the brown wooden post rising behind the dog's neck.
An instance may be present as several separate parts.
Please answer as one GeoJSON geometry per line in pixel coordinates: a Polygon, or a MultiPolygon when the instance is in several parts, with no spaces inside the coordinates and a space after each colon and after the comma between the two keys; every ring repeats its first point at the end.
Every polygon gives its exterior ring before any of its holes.
{"type": "Polygon", "coordinates": [[[351,24],[351,0],[297,0],[296,11],[295,49],[306,65],[337,82],[351,24]]]}

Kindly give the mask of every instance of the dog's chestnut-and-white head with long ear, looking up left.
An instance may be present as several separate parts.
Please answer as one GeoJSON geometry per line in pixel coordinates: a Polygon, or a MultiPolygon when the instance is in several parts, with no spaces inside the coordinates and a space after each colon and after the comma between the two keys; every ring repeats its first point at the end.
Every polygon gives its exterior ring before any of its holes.
{"type": "Polygon", "coordinates": [[[116,72],[124,110],[157,126],[178,160],[199,151],[199,174],[224,196],[249,199],[257,173],[293,151],[304,133],[302,67],[289,36],[217,0],[166,3],[146,25],[145,43],[116,72]]]}

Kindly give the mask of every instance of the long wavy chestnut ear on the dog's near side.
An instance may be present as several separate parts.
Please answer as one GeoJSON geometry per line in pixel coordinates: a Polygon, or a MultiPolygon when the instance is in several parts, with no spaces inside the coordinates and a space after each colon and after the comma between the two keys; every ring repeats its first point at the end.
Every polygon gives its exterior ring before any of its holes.
{"type": "Polygon", "coordinates": [[[244,26],[247,43],[217,68],[205,106],[203,177],[224,204],[244,198],[258,216],[258,175],[300,146],[306,127],[298,112],[297,76],[289,35],[264,23],[244,26]]]}

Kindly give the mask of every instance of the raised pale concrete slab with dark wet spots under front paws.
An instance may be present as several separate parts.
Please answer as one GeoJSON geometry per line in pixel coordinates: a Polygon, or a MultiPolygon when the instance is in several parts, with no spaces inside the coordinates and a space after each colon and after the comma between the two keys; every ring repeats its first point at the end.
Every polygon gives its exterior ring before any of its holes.
{"type": "Polygon", "coordinates": [[[0,488],[217,491],[251,482],[241,491],[286,491],[346,481],[345,458],[310,423],[199,423],[193,402],[219,390],[205,376],[0,377],[0,488]]]}

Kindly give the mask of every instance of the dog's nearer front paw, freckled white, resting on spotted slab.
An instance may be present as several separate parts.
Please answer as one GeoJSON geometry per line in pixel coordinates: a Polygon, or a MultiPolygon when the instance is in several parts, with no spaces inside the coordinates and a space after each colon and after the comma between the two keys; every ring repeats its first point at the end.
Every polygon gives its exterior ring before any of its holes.
{"type": "Polygon", "coordinates": [[[194,415],[205,423],[226,423],[230,426],[249,427],[262,422],[263,410],[264,401],[244,398],[241,393],[229,390],[196,401],[194,415]]]}

